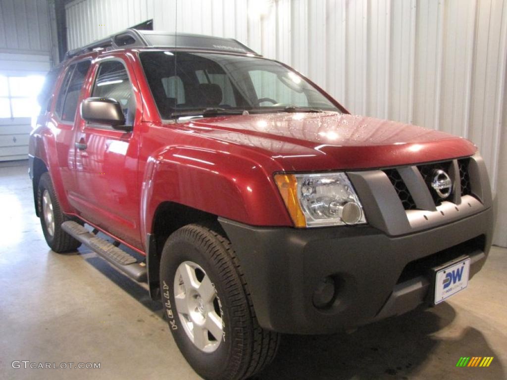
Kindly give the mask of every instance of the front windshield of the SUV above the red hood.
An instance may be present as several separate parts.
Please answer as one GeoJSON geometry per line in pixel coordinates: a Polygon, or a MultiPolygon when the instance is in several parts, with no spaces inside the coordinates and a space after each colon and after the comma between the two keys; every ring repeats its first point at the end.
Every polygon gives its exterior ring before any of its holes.
{"type": "Polygon", "coordinates": [[[268,59],[169,51],[139,57],[162,119],[245,110],[340,112],[296,72],[268,59]]]}

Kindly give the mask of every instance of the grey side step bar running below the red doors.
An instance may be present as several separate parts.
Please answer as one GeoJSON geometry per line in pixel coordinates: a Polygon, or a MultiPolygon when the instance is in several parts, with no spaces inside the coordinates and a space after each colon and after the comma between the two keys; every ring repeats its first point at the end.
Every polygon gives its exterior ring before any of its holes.
{"type": "Polygon", "coordinates": [[[137,282],[147,282],[146,264],[102,238],[90,233],[81,224],[68,220],[62,223],[62,230],[86,245],[115,268],[137,282]]]}

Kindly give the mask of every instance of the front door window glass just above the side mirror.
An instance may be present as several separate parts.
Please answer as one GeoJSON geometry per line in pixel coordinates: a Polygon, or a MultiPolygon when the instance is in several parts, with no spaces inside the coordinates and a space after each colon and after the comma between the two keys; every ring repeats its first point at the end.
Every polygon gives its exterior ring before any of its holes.
{"type": "Polygon", "coordinates": [[[106,61],[99,65],[92,96],[115,99],[122,107],[125,124],[134,124],[135,96],[122,62],[106,61]]]}

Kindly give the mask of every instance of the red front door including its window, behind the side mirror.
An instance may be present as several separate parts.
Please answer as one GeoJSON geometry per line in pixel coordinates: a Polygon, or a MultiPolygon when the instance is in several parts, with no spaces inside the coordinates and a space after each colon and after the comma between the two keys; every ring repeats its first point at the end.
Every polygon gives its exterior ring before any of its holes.
{"type": "Polygon", "coordinates": [[[117,100],[124,112],[125,132],[103,124],[76,120],[76,194],[80,215],[123,242],[142,248],[137,183],[138,127],[141,100],[130,64],[120,56],[98,60],[89,96],[117,100]]]}

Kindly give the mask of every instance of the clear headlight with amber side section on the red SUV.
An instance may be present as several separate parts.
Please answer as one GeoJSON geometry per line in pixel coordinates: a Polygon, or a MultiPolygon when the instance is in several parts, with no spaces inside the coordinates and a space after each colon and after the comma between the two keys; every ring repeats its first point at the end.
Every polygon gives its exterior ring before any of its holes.
{"type": "Polygon", "coordinates": [[[275,182],[296,227],[366,223],[345,173],[276,174],[275,182]]]}

